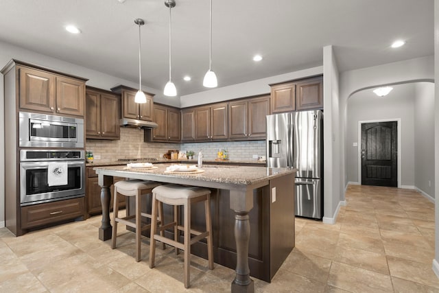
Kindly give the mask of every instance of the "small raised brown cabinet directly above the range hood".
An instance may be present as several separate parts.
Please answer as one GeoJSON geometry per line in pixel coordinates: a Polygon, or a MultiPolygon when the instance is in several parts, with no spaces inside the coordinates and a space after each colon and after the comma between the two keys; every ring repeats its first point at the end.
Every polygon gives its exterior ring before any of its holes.
{"type": "Polygon", "coordinates": [[[138,104],[134,102],[137,89],[132,89],[128,86],[117,86],[111,91],[121,94],[121,115],[124,118],[152,121],[152,110],[154,102],[152,93],[145,93],[146,103],[138,104]]]}

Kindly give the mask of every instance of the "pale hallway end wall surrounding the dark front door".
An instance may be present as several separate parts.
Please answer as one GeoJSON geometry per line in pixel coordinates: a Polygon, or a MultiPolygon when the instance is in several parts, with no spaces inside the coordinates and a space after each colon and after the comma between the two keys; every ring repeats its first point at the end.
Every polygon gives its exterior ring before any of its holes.
{"type": "Polygon", "coordinates": [[[358,174],[359,121],[401,119],[401,183],[414,186],[414,99],[415,85],[401,84],[385,97],[378,97],[372,89],[359,91],[348,99],[346,120],[346,174],[351,183],[361,183],[358,174]],[[358,146],[353,146],[357,143],[358,146]]]}

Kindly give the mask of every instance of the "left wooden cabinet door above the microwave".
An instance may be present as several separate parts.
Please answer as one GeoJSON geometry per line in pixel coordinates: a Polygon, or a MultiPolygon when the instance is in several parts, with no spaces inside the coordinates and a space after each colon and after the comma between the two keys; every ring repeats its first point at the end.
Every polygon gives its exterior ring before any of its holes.
{"type": "Polygon", "coordinates": [[[20,73],[20,108],[54,112],[56,77],[51,73],[18,67],[20,73]]]}

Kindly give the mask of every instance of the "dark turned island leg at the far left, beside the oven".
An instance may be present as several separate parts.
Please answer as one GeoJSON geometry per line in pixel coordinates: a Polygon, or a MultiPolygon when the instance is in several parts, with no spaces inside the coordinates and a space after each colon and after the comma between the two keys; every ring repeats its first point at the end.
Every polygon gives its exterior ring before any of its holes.
{"type": "Polygon", "coordinates": [[[102,204],[102,222],[99,227],[99,239],[102,241],[111,239],[111,222],[110,222],[110,186],[112,185],[112,176],[104,176],[99,174],[97,183],[102,187],[101,189],[101,204],[102,204]]]}

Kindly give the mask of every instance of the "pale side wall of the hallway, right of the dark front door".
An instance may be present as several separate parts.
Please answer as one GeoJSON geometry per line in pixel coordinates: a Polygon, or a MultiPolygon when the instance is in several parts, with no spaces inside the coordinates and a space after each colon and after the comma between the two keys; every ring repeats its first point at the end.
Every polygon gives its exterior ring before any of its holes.
{"type": "Polygon", "coordinates": [[[414,186],[434,198],[434,84],[414,86],[414,186]]]}

